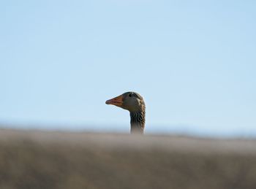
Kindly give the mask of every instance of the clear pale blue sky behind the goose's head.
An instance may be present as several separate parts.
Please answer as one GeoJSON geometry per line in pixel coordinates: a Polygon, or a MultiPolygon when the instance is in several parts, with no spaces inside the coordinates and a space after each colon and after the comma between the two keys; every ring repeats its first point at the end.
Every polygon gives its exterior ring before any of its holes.
{"type": "Polygon", "coordinates": [[[0,123],[256,136],[256,1],[1,1],[0,123]]]}

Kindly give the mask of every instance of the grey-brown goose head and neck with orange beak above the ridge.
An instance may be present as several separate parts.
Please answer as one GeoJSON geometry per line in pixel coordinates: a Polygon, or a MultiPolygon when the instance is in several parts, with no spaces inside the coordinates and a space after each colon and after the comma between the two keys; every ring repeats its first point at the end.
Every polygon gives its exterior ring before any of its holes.
{"type": "Polygon", "coordinates": [[[143,97],[135,92],[123,93],[113,99],[106,101],[106,104],[112,104],[129,111],[131,118],[131,134],[143,134],[145,128],[145,109],[146,105],[143,97]]]}

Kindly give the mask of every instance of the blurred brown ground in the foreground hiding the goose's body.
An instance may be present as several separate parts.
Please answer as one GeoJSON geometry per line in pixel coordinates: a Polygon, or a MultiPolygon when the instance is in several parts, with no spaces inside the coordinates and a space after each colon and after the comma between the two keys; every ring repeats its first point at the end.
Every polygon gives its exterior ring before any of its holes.
{"type": "Polygon", "coordinates": [[[1,129],[0,188],[255,189],[256,141],[1,129]]]}

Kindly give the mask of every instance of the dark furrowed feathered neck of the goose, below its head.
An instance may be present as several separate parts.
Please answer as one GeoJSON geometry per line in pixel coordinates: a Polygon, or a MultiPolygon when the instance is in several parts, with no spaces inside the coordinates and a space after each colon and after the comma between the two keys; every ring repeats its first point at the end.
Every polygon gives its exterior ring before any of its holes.
{"type": "Polygon", "coordinates": [[[143,134],[145,128],[145,109],[138,112],[130,112],[131,134],[143,134]]]}

